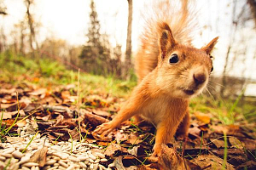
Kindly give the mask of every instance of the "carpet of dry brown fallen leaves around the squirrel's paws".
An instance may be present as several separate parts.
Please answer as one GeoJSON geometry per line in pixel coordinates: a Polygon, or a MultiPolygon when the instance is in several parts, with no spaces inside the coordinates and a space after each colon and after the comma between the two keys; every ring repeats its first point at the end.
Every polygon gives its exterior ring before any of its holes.
{"type": "MultiPolygon", "coordinates": [[[[71,84],[56,88],[37,88],[23,85],[13,87],[8,83],[0,89],[2,125],[11,127],[9,133],[17,133],[18,127],[27,126],[48,136],[55,144],[69,139],[101,145],[102,154],[108,157],[116,169],[247,169],[256,168],[255,132],[239,125],[222,125],[211,122],[211,116],[196,112],[186,141],[173,140],[162,145],[162,155],[150,160],[154,145],[154,127],[137,126],[130,121],[109,133],[108,139],[96,136],[93,130],[108,122],[119,111],[122,99],[109,94],[92,94],[81,99],[78,110],[75,102],[76,86],[71,84]],[[17,100],[18,92],[18,100],[17,100]],[[72,92],[72,93],[71,93],[72,92]],[[15,118],[17,121],[15,122],[15,118]],[[25,121],[29,120],[29,121],[25,121]],[[80,123],[80,126],[79,126],[80,123]],[[224,132],[227,134],[227,162],[224,165],[224,132]]],[[[2,142],[22,140],[6,136],[2,142]]],[[[44,167],[48,148],[35,152],[31,161],[44,167]]]]}

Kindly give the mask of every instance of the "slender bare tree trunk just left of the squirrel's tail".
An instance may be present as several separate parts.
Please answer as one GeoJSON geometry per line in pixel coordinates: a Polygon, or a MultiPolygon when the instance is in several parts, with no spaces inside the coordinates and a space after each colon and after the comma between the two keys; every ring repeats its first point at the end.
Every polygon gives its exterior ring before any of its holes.
{"type": "Polygon", "coordinates": [[[125,52],[125,66],[123,70],[123,77],[130,76],[131,69],[131,23],[132,23],[132,0],[128,1],[128,26],[127,26],[127,39],[126,39],[126,52],[125,52]]]}

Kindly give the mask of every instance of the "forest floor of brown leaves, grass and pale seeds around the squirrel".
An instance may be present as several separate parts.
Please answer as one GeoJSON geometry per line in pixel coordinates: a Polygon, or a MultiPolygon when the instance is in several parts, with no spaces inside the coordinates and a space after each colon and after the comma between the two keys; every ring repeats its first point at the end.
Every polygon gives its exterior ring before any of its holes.
{"type": "Polygon", "coordinates": [[[48,59],[3,62],[0,169],[256,169],[255,105],[192,99],[188,139],[163,145],[153,162],[153,126],[126,121],[108,140],[92,133],[136,82],[67,71],[48,59]]]}

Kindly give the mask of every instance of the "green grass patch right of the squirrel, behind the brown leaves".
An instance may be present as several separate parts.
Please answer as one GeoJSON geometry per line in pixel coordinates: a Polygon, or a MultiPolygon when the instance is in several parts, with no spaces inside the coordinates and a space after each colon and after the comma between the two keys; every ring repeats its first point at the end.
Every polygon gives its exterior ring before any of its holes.
{"type": "Polygon", "coordinates": [[[256,122],[255,105],[242,103],[241,96],[237,99],[212,99],[206,95],[198,96],[190,101],[190,112],[201,111],[209,114],[212,121],[220,121],[225,125],[236,124],[236,122],[256,122]]]}

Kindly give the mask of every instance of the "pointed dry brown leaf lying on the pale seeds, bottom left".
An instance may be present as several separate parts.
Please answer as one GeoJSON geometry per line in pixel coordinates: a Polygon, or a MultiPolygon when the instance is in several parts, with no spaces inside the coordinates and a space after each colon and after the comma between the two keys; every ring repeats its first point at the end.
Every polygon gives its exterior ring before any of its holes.
{"type": "Polygon", "coordinates": [[[39,167],[44,167],[44,164],[46,162],[46,154],[47,154],[48,148],[44,146],[42,149],[36,151],[30,158],[29,161],[35,162],[39,164],[39,167]]]}

